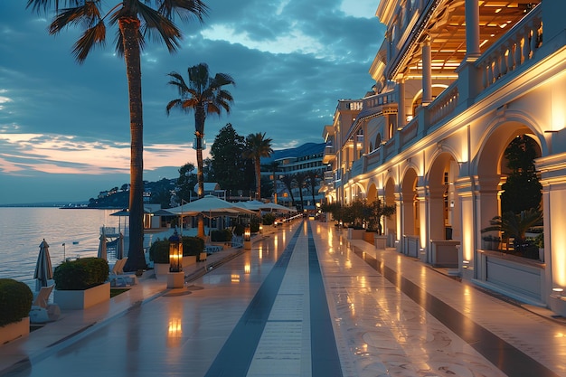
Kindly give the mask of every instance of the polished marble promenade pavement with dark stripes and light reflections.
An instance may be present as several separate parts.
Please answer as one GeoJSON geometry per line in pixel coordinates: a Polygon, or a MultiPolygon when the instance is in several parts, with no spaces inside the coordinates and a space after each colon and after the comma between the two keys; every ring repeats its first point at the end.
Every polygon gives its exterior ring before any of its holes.
{"type": "Polygon", "coordinates": [[[566,376],[562,323],[324,222],[272,230],[182,289],[138,286],[1,346],[0,375],[566,376]],[[5,351],[29,357],[6,367],[5,351]]]}

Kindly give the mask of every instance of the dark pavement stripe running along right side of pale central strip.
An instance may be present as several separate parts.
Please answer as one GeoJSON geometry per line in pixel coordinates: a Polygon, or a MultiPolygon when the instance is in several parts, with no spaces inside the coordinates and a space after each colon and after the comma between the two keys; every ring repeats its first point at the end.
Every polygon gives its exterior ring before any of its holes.
{"type": "Polygon", "coordinates": [[[313,377],[342,377],[342,367],[326,301],[325,285],[310,225],[308,226],[308,284],[310,287],[312,375],[313,377]]]}

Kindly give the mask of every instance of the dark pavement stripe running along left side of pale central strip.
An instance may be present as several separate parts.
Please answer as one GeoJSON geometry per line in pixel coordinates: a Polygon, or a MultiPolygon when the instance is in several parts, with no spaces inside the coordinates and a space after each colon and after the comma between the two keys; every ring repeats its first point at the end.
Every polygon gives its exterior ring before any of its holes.
{"type": "Polygon", "coordinates": [[[297,231],[251,299],[250,305],[232,330],[220,353],[216,355],[205,377],[245,377],[248,373],[301,229],[302,227],[297,227],[297,231]]]}

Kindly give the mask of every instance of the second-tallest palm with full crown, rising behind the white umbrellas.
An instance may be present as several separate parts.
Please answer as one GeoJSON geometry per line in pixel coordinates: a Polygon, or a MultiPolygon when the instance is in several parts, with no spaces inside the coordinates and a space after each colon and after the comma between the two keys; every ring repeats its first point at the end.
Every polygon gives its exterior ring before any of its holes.
{"type": "MultiPolygon", "coordinates": [[[[172,108],[178,108],[184,112],[194,112],[194,136],[196,137],[196,179],[199,185],[198,197],[204,195],[204,164],[203,164],[203,137],[204,121],[208,114],[216,114],[220,117],[222,108],[226,113],[230,113],[231,103],[234,99],[230,91],[223,90],[225,85],[235,85],[236,82],[226,73],[216,73],[210,76],[208,65],[199,63],[189,67],[188,81],[183,79],[177,72],[169,73],[172,80],[169,85],[177,88],[180,98],[172,99],[165,108],[169,115],[172,108]]],[[[198,236],[204,238],[203,217],[199,216],[198,236]]]]}

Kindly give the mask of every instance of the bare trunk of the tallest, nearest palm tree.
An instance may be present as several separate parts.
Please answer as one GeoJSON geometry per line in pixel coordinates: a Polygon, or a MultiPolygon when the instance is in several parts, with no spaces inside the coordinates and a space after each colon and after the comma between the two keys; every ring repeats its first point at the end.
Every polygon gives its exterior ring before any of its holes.
{"type": "Polygon", "coordinates": [[[146,269],[144,254],[144,121],[141,90],[141,63],[136,17],[120,18],[120,33],[124,40],[124,60],[127,69],[127,91],[130,117],[130,190],[129,190],[129,249],[126,271],[146,269]]]}

